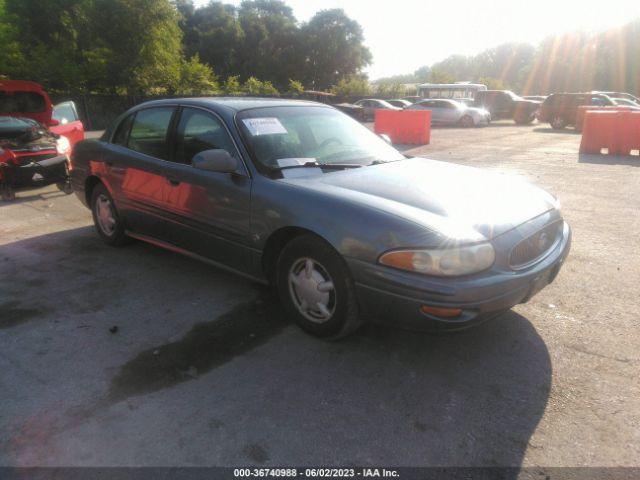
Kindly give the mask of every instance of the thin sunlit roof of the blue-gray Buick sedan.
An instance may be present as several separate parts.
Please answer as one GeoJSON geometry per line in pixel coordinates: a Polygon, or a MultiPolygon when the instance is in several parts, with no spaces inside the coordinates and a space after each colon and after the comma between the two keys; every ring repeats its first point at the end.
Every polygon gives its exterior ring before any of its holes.
{"type": "Polygon", "coordinates": [[[212,107],[215,109],[224,109],[231,112],[240,112],[253,108],[264,107],[292,107],[292,106],[309,106],[309,107],[327,107],[324,103],[312,102],[309,100],[289,100],[283,98],[261,98],[261,97],[185,97],[185,98],[167,98],[163,100],[151,100],[141,103],[137,107],[150,107],[162,105],[195,105],[201,107],[212,107]]]}

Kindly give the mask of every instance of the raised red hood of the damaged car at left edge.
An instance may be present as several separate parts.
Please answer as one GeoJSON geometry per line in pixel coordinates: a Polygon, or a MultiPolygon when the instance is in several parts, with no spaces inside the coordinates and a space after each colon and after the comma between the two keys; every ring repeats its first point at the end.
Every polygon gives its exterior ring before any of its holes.
{"type": "Polygon", "coordinates": [[[0,80],[0,115],[30,118],[50,125],[53,105],[47,92],[35,82],[0,80]]]}

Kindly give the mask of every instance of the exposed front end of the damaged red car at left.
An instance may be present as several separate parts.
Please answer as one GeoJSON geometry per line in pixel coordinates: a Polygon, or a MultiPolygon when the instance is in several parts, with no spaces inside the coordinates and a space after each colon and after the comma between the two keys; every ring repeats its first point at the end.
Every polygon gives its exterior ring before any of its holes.
{"type": "Polygon", "coordinates": [[[69,192],[69,141],[31,118],[0,116],[0,192],[56,184],[69,192]]]}

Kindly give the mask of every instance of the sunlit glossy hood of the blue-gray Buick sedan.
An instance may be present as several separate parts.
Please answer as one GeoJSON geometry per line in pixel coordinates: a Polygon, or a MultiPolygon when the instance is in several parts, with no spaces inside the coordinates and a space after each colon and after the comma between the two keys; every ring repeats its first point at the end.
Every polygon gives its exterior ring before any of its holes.
{"type": "Polygon", "coordinates": [[[520,177],[424,158],[281,181],[366,204],[459,241],[491,239],[556,206],[550,194],[520,177]]]}

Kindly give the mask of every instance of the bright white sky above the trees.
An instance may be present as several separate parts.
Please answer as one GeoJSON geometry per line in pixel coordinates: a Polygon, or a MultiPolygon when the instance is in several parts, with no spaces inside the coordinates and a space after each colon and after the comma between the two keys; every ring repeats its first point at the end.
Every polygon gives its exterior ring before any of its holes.
{"type": "Polygon", "coordinates": [[[366,69],[372,80],[412,73],[453,54],[473,55],[514,41],[535,45],[552,34],[598,32],[640,18],[640,0],[285,1],[299,21],[328,8],[342,8],[358,21],[373,54],[366,69]]]}

